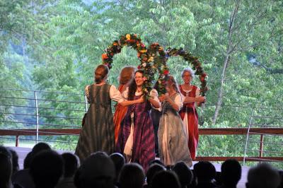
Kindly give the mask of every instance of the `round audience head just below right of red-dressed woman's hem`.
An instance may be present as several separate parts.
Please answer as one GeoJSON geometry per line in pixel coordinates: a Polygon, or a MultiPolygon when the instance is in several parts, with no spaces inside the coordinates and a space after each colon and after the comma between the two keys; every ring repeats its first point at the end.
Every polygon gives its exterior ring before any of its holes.
{"type": "Polygon", "coordinates": [[[212,182],[216,176],[216,169],[212,163],[208,161],[200,161],[194,165],[195,176],[197,182],[212,182]]]}

